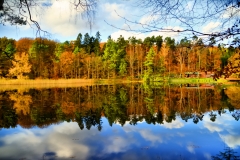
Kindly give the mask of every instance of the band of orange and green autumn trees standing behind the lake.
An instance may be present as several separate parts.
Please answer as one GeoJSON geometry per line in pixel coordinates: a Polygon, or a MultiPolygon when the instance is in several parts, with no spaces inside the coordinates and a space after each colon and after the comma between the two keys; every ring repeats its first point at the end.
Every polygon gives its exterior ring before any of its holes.
{"type": "MultiPolygon", "coordinates": [[[[212,40],[211,44],[215,44],[212,40]]],[[[0,77],[17,79],[144,79],[182,77],[186,72],[220,72],[239,76],[239,49],[209,46],[194,36],[176,42],[162,36],[137,39],[120,36],[101,42],[78,34],[63,43],[46,38],[0,38],[0,77]],[[234,64],[234,65],[233,65],[234,64]]]]}

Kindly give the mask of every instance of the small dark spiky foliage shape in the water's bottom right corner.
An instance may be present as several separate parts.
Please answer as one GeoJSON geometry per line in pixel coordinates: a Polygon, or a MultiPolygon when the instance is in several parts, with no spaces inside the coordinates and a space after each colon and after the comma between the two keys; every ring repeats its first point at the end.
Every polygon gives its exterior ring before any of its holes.
{"type": "Polygon", "coordinates": [[[236,155],[237,152],[234,152],[230,147],[226,147],[224,152],[220,152],[216,156],[212,156],[213,160],[239,160],[240,156],[236,155]]]}

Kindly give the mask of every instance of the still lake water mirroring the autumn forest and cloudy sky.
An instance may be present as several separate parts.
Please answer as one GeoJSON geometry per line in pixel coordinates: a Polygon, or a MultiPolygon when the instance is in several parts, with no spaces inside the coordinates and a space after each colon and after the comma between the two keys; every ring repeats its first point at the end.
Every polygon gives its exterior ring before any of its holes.
{"type": "Polygon", "coordinates": [[[240,159],[240,87],[0,91],[1,160],[240,159]]]}

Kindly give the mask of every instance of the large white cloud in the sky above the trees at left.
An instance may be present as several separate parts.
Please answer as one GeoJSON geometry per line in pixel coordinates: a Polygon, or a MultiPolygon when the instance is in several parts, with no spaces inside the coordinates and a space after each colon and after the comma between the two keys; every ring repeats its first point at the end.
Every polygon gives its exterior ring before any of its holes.
{"type": "Polygon", "coordinates": [[[74,9],[71,1],[51,2],[49,7],[38,7],[32,11],[33,19],[43,30],[61,36],[74,36],[89,27],[86,19],[82,18],[83,10],[74,9]]]}

